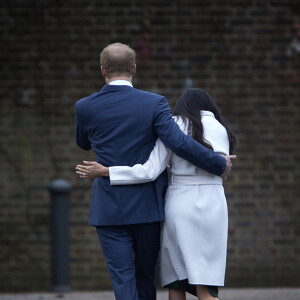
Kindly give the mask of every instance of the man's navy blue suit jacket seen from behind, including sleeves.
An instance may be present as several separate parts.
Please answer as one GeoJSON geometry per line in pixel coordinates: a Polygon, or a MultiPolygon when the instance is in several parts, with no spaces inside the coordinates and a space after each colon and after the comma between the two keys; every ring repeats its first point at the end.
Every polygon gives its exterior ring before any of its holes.
{"type": "MultiPolygon", "coordinates": [[[[93,149],[104,166],[133,166],[147,161],[157,137],[192,164],[215,175],[223,173],[223,157],[182,133],[173,121],[165,97],[126,85],[105,85],[76,102],[76,142],[93,149]]],[[[109,178],[94,180],[92,226],[148,223],[164,220],[167,174],[154,182],[111,186],[109,178]]]]}

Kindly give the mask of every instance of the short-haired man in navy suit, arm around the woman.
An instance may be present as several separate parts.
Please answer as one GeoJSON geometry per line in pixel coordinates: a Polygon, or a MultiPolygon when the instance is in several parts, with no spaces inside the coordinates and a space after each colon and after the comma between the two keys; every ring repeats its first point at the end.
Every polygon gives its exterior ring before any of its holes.
{"type": "MultiPolygon", "coordinates": [[[[182,133],[165,97],[132,86],[135,52],[116,43],[103,49],[101,72],[106,85],[76,102],[76,142],[93,149],[105,166],[144,163],[156,139],[178,156],[212,174],[226,177],[222,157],[182,133]]],[[[95,226],[117,300],[154,300],[160,222],[164,221],[167,175],[154,182],[111,186],[95,178],[89,225],[95,226]]]]}

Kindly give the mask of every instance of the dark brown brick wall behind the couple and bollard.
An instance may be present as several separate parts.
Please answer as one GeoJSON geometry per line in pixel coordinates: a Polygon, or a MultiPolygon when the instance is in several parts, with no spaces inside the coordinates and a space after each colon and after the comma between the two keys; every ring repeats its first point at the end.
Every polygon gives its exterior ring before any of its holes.
{"type": "Polygon", "coordinates": [[[51,286],[52,179],[69,180],[71,285],[110,283],[87,226],[93,159],[74,143],[74,103],[104,81],[99,52],[137,51],[137,88],[172,106],[210,92],[239,138],[231,179],[227,286],[300,284],[300,9],[294,0],[2,1],[0,291],[51,286]]]}

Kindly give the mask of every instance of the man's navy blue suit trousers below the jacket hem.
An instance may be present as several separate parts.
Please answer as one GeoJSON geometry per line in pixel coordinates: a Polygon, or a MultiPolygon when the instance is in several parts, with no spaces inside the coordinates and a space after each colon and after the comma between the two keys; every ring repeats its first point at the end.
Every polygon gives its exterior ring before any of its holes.
{"type": "Polygon", "coordinates": [[[160,222],[96,229],[116,300],[155,300],[160,222]]]}

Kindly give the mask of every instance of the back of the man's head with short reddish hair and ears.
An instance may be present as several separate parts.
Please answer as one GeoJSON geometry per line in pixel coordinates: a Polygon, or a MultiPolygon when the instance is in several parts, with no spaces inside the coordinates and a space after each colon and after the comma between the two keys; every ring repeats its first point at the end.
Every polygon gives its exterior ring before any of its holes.
{"type": "Polygon", "coordinates": [[[135,64],[135,51],[125,44],[110,44],[102,50],[100,64],[108,78],[115,75],[131,76],[135,64]]]}

